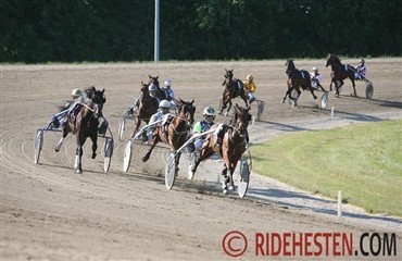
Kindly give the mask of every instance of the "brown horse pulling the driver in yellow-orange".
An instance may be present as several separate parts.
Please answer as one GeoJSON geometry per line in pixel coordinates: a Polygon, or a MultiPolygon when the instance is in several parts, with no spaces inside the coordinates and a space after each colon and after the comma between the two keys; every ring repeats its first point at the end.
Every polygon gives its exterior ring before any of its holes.
{"type": "Polygon", "coordinates": [[[231,108],[231,99],[240,97],[244,101],[246,107],[249,105],[249,102],[246,91],[243,89],[243,83],[241,83],[241,80],[239,79],[234,78],[234,70],[225,69],[225,71],[226,71],[224,75],[225,80],[222,84],[222,86],[224,86],[224,91],[222,94],[222,108],[219,114],[222,114],[222,112],[227,108],[225,113],[225,116],[227,116],[231,108]]]}

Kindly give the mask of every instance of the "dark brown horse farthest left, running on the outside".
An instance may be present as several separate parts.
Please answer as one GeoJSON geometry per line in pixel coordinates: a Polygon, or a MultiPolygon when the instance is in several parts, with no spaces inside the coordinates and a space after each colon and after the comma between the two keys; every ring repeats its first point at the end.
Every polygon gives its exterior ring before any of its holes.
{"type": "Polygon", "coordinates": [[[102,116],[103,104],[106,102],[104,89],[97,90],[93,86],[85,90],[85,92],[87,102],[85,104],[78,104],[79,108],[67,114],[66,122],[62,126],[63,136],[54,147],[54,150],[59,152],[67,134],[75,134],[77,149],[75,152],[74,169],[76,173],[83,173],[83,146],[88,137],[92,140],[91,159],[97,157],[99,117],[102,116]]]}

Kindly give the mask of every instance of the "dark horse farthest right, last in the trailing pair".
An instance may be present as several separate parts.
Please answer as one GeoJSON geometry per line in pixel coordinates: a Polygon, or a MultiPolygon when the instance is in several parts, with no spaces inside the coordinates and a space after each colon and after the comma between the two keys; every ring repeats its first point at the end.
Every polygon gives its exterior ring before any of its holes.
{"type": "Polygon", "coordinates": [[[329,85],[329,91],[332,91],[332,83],[335,85],[335,96],[339,97],[340,88],[343,86],[343,79],[349,78],[352,82],[353,94],[351,96],[357,97],[356,88],[354,85],[354,73],[356,72],[352,65],[342,64],[334,54],[328,53],[326,67],[330,65],[331,72],[330,77],[331,82],[329,85]]]}

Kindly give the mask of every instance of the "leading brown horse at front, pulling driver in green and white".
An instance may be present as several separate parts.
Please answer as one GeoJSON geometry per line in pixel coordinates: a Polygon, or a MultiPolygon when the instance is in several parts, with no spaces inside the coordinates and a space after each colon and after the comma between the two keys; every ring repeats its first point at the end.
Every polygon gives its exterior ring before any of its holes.
{"type": "MultiPolygon", "coordinates": [[[[249,126],[249,122],[252,119],[249,111],[250,107],[247,107],[244,109],[236,103],[234,122],[231,125],[225,125],[225,133],[223,135],[221,148],[215,146],[217,139],[216,135],[214,135],[214,133],[209,134],[201,149],[200,157],[198,158],[196,164],[191,170],[192,174],[194,174],[201,161],[210,158],[214,153],[219,154],[224,161],[224,169],[222,171],[222,188],[225,194],[227,192],[227,189],[235,189],[233,175],[238,161],[247,150],[247,127],[249,126]]],[[[218,124],[214,124],[211,129],[216,129],[217,127],[218,124]]]]}

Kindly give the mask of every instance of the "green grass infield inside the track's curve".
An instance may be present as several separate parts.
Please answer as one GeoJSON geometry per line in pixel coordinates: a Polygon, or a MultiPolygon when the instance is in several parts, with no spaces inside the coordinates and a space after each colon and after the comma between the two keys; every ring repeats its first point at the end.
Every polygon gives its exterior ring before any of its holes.
{"type": "Polygon", "coordinates": [[[402,216],[402,121],[300,132],[251,147],[253,171],[370,213],[402,216]]]}

